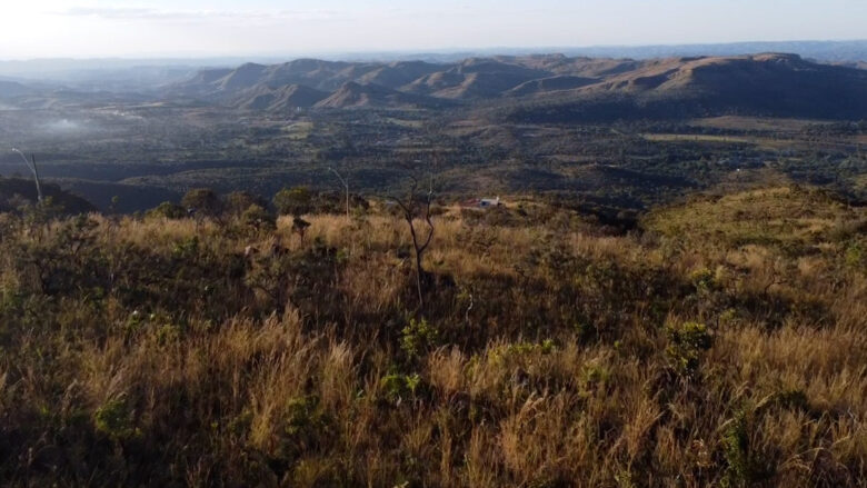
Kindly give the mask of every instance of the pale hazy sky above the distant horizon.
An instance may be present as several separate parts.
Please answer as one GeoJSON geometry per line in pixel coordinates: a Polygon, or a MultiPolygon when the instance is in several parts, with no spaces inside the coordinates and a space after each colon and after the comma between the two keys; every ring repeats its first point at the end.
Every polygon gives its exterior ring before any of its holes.
{"type": "Polygon", "coordinates": [[[867,0],[2,0],[0,58],[867,38],[867,0]]]}

